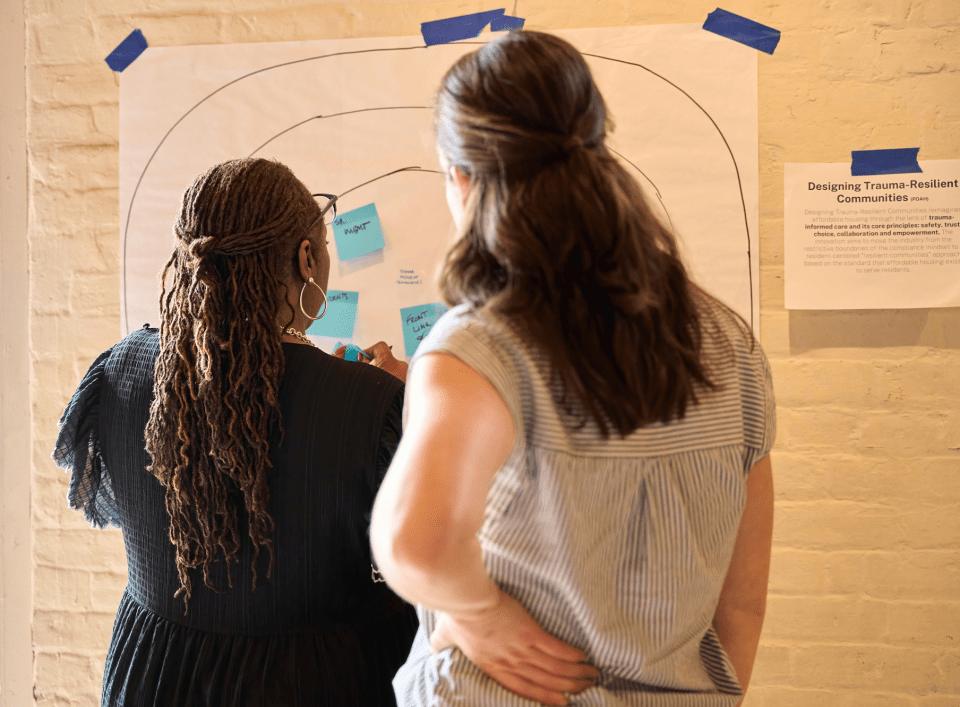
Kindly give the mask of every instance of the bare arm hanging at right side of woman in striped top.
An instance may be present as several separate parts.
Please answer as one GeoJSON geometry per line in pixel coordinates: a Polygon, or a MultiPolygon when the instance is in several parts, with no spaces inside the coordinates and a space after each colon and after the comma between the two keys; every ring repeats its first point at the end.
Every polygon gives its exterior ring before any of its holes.
{"type": "Polygon", "coordinates": [[[747,477],[746,507],[713,617],[720,645],[730,657],[744,692],[750,684],[763,628],[772,538],[773,473],[770,457],[766,456],[747,477]]]}

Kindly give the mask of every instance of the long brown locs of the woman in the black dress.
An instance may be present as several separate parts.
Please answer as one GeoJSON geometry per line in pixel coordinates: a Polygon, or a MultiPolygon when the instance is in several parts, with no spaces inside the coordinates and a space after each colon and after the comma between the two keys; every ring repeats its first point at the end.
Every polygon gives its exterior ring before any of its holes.
{"type": "Polygon", "coordinates": [[[281,425],[277,318],[285,307],[293,320],[286,280],[319,215],[293,173],[265,159],[219,164],[183,195],[176,248],[161,275],[160,356],[145,436],[148,469],[166,493],[185,609],[190,570],[201,568],[215,589],[209,568],[221,552],[233,585],[236,491],[249,517],[253,588],[261,548],[270,554],[268,577],[273,570],[267,455],[281,425]]]}

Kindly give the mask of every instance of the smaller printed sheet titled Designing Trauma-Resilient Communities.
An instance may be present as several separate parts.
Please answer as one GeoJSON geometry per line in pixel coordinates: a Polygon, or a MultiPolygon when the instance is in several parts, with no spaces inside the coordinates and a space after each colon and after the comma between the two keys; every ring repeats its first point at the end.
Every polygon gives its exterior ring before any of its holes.
{"type": "Polygon", "coordinates": [[[960,160],[922,173],[850,176],[787,164],[787,309],[960,306],[960,160]]]}

